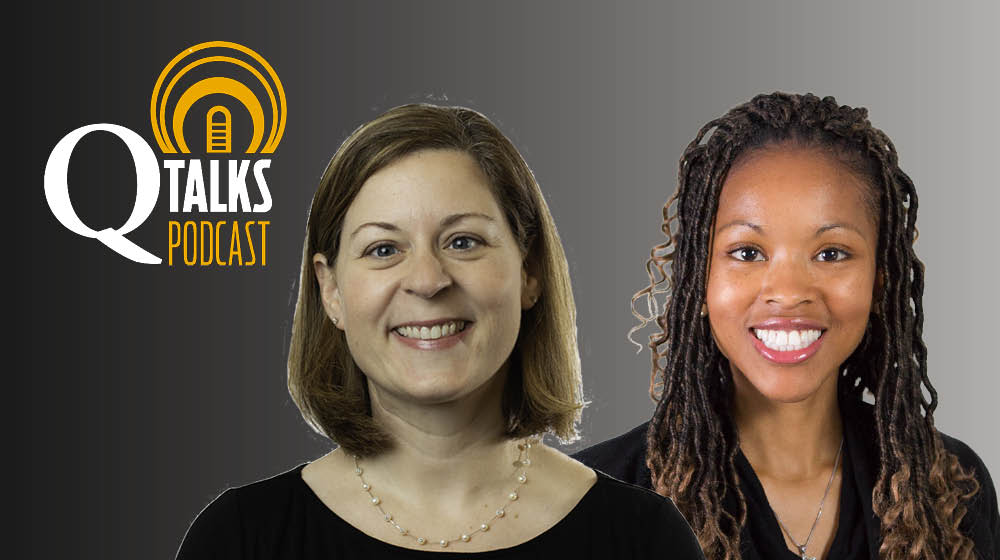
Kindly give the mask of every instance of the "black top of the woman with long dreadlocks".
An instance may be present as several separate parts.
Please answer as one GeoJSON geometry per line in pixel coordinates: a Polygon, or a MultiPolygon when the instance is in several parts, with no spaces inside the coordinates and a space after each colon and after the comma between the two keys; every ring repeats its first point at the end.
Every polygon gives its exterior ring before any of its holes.
{"type": "MultiPolygon", "coordinates": [[[[873,409],[866,404],[842,404],[844,424],[844,477],[840,489],[840,516],[829,558],[877,560],[881,543],[880,523],[872,511],[872,491],[879,462],[873,409]]],[[[652,487],[646,466],[646,429],[649,423],[617,438],[587,448],[574,457],[624,481],[652,487]]],[[[975,543],[980,558],[1000,554],[1000,513],[996,490],[986,465],[975,452],[957,439],[941,435],[945,449],[955,454],[979,481],[979,492],[968,505],[961,529],[975,543]]],[[[740,533],[744,560],[798,558],[785,546],[764,488],[742,453],[736,456],[736,472],[747,503],[747,523],[740,533]]],[[[810,551],[811,552],[811,551],[810,551]]]]}

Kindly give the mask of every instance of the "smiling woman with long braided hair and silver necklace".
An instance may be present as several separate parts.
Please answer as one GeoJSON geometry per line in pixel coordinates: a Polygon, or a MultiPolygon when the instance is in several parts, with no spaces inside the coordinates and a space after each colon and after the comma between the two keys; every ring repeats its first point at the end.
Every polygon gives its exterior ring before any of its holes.
{"type": "Polygon", "coordinates": [[[577,457],[671,497],[710,559],[997,558],[989,473],[934,427],[916,213],[865,109],[706,124],[632,300],[656,412],[577,457]]]}

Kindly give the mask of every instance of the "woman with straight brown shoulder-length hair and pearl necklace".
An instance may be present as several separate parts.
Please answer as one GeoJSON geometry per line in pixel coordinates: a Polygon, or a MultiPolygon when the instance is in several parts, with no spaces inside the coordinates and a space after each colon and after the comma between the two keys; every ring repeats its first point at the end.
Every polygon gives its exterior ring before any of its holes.
{"type": "Polygon", "coordinates": [[[485,117],[356,130],[309,214],[288,360],[339,447],[223,493],[178,558],[702,558],[673,504],[544,445],[583,407],[575,309],[527,165],[485,117]]]}

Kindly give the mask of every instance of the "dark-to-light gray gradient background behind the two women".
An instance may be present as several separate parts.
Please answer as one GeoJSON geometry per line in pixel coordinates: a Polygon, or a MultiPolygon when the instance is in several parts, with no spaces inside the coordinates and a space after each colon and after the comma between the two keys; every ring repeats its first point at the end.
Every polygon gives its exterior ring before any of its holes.
{"type": "MultiPolygon", "coordinates": [[[[643,285],[643,262],[661,239],[660,207],[697,128],[774,90],[867,106],[920,194],[938,425],[1000,472],[997,4],[690,4],[243,2],[136,11],[122,2],[24,14],[16,71],[28,89],[15,118],[26,133],[7,162],[17,170],[7,190],[16,193],[17,230],[6,270],[18,272],[8,292],[17,358],[4,392],[5,509],[13,514],[5,526],[8,542],[23,547],[11,557],[172,557],[191,519],[227,486],[328,449],[285,389],[305,213],[351,130],[422,100],[494,119],[555,215],[593,401],[583,441],[567,451],[652,412],[648,354],[625,340],[634,324],[628,301],[643,285]],[[156,75],[207,40],[254,48],[287,92],[288,125],[269,175],[268,267],[143,266],[63,229],[42,196],[52,146],[96,122],[152,142],[156,75]]],[[[89,208],[86,220],[120,224],[131,208],[134,178],[119,146],[94,140],[82,152],[90,163],[74,163],[91,179],[72,191],[89,208]]],[[[161,256],[165,198],[131,236],[161,256]]]]}

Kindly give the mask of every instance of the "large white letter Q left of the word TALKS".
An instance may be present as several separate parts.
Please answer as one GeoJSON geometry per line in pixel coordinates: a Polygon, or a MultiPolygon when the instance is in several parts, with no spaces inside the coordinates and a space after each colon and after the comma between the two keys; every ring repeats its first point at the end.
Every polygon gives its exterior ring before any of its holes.
{"type": "Polygon", "coordinates": [[[135,262],[160,264],[163,260],[125,238],[125,234],[142,225],[153,212],[159,194],[160,168],[156,154],[142,136],[124,126],[102,123],[80,127],[56,144],[49,155],[49,161],[45,164],[45,200],[48,201],[49,208],[59,223],[77,235],[97,239],[112,251],[135,262]],[[76,215],[69,199],[67,174],[70,156],[73,155],[73,149],[81,138],[97,130],[110,132],[121,138],[132,152],[132,159],[135,161],[135,206],[132,207],[132,214],[128,220],[118,229],[108,228],[101,231],[91,229],[76,215]]]}

